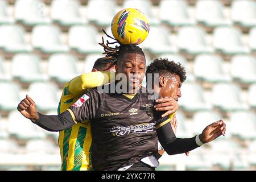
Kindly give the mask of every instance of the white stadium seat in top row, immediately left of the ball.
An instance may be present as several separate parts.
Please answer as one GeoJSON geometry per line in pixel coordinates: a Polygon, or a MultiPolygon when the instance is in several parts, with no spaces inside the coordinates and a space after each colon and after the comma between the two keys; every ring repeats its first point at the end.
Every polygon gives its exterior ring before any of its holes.
{"type": "Polygon", "coordinates": [[[112,0],[89,0],[87,17],[98,26],[109,26],[115,15],[116,4],[112,0]]]}

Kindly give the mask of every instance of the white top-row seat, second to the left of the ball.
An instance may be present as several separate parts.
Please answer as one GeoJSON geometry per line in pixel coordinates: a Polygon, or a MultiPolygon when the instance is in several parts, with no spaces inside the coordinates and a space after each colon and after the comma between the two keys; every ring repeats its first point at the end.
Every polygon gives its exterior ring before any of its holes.
{"type": "Polygon", "coordinates": [[[62,26],[85,24],[87,20],[80,14],[80,2],[78,0],[53,0],[51,4],[51,18],[53,22],[62,26]]]}

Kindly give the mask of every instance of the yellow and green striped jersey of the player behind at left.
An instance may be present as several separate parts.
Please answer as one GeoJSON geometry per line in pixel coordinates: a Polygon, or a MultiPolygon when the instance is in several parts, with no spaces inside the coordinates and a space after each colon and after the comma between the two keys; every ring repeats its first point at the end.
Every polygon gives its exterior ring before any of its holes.
{"type": "MultiPolygon", "coordinates": [[[[63,113],[74,104],[84,92],[96,86],[107,84],[114,80],[112,72],[92,72],[73,78],[64,85],[60,98],[58,114],[63,113]]],[[[91,152],[92,133],[90,122],[84,121],[60,131],[59,147],[61,155],[61,170],[88,171],[92,170],[91,152]]]]}

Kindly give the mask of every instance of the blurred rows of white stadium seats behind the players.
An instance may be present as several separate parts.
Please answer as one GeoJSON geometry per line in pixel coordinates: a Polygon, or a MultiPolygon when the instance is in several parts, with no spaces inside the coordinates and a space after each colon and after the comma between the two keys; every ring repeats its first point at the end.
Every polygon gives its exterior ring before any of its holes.
{"type": "MultiPolygon", "coordinates": [[[[28,93],[56,114],[65,82],[90,72],[104,28],[135,7],[150,22],[139,46],[187,70],[177,137],[193,137],[223,118],[226,136],[192,152],[160,158],[158,170],[256,169],[256,1],[0,0],[0,170],[59,170],[58,133],[23,118],[28,93]]],[[[106,37],[106,36],[105,36],[106,37]]]]}

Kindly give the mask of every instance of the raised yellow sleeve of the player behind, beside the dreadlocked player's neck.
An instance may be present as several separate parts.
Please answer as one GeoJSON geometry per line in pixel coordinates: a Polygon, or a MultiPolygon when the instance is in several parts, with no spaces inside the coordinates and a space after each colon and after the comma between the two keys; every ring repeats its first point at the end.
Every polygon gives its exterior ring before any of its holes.
{"type": "Polygon", "coordinates": [[[68,84],[71,94],[81,94],[85,90],[108,84],[115,79],[114,72],[90,72],[73,78],[68,84]]]}

